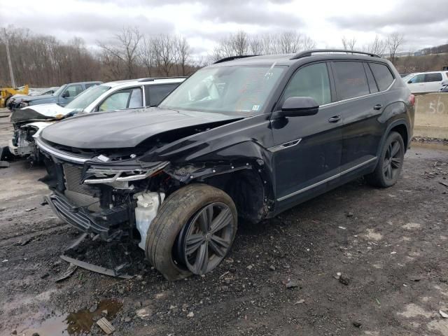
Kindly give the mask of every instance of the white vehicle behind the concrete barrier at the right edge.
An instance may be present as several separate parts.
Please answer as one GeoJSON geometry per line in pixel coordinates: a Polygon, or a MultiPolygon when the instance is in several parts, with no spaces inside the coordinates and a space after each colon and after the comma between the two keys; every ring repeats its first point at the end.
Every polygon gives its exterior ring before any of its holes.
{"type": "Polygon", "coordinates": [[[409,73],[402,79],[412,93],[438,92],[442,81],[448,80],[448,71],[409,73]]]}

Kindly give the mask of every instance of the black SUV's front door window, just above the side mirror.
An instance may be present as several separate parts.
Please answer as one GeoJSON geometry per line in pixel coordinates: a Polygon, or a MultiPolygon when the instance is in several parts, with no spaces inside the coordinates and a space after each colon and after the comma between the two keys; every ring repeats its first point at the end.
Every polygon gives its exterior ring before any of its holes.
{"type": "Polygon", "coordinates": [[[311,64],[296,71],[283,94],[283,102],[289,97],[312,97],[319,105],[330,103],[331,90],[327,65],[311,64]]]}

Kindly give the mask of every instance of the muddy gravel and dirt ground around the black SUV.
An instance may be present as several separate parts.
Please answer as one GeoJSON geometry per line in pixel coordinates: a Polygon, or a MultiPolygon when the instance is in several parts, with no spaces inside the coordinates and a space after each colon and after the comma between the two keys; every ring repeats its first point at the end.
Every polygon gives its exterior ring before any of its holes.
{"type": "MultiPolygon", "coordinates": [[[[0,169],[0,335],[105,335],[102,316],[113,335],[448,335],[447,146],[414,146],[392,188],[361,179],[241,224],[220,267],[175,283],[139,251],[132,279],[78,268],[56,283],[78,232],[41,205],[43,174],[0,169]]],[[[83,250],[107,263],[102,244],[83,250]]]]}

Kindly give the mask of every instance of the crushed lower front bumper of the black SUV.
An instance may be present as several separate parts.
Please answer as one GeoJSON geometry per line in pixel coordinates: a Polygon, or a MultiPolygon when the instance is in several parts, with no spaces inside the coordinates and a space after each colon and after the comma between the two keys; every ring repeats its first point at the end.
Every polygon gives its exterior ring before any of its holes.
{"type": "Polygon", "coordinates": [[[91,212],[85,207],[77,207],[59,193],[45,196],[52,211],[62,221],[73,225],[82,232],[98,234],[104,240],[111,240],[121,231],[120,224],[129,221],[129,207],[121,205],[112,209],[91,212]]]}

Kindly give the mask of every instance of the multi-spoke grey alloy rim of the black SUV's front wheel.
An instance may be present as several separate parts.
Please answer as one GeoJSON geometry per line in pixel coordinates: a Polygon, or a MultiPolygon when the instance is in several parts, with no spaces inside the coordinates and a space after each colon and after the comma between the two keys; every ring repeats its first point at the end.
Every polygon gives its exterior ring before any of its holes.
{"type": "Polygon", "coordinates": [[[214,269],[227,255],[235,231],[230,208],[211,203],[200,209],[179,236],[179,252],[183,263],[193,274],[214,269]]]}

